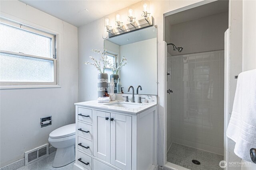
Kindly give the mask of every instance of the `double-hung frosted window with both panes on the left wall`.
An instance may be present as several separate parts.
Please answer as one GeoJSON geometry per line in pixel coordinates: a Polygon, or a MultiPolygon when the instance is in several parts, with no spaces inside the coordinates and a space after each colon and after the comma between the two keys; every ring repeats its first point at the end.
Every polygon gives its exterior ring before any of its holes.
{"type": "Polygon", "coordinates": [[[0,20],[0,82],[57,84],[56,35],[0,20]]]}

